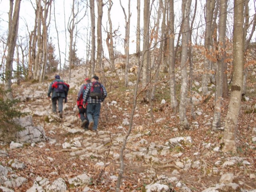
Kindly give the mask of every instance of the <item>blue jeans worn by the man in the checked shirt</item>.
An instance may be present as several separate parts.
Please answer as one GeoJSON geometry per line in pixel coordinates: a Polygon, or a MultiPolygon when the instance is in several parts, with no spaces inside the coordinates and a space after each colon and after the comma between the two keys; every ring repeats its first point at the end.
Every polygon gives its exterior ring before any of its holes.
{"type": "Polygon", "coordinates": [[[94,122],[93,130],[97,130],[100,117],[100,103],[88,103],[87,105],[87,117],[89,122],[94,122]]]}

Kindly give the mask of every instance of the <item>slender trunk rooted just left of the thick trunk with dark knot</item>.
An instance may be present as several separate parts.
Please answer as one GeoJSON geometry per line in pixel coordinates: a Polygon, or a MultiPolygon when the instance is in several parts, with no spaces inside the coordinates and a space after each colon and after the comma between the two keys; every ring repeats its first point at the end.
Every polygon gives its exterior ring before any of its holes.
{"type": "Polygon", "coordinates": [[[212,130],[216,131],[220,127],[220,115],[222,106],[222,90],[223,90],[223,75],[224,75],[224,59],[226,56],[226,22],[227,22],[227,5],[228,0],[220,0],[220,18],[219,18],[219,39],[218,39],[218,60],[216,70],[216,93],[214,116],[212,120],[212,130]]]}

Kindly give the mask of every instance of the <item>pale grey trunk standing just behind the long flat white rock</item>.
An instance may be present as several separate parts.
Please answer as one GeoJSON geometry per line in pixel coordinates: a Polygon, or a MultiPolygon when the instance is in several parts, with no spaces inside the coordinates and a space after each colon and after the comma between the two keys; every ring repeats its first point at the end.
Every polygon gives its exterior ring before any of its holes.
{"type": "Polygon", "coordinates": [[[188,39],[189,39],[189,14],[191,0],[182,0],[182,52],[181,52],[181,88],[180,88],[180,125],[183,129],[189,129],[189,124],[186,116],[186,105],[188,95],[188,78],[187,78],[187,64],[188,64],[188,39]]]}

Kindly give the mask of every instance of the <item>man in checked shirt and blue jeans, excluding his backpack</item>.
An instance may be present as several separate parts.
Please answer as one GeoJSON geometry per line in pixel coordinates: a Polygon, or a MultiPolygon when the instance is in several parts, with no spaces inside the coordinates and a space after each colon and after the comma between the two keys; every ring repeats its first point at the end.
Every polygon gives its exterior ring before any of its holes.
{"type": "Polygon", "coordinates": [[[91,88],[92,88],[94,82],[98,82],[98,80],[99,80],[98,76],[92,77],[92,82],[86,86],[86,90],[84,91],[84,96],[83,96],[83,106],[87,110],[87,117],[89,120],[88,128],[90,130],[94,130],[94,131],[97,131],[97,128],[98,128],[101,102],[103,102],[107,96],[106,88],[101,84],[102,97],[100,97],[100,98],[92,98],[91,97],[91,95],[90,95],[91,88]],[[87,106],[86,106],[86,102],[88,102],[87,106]]]}

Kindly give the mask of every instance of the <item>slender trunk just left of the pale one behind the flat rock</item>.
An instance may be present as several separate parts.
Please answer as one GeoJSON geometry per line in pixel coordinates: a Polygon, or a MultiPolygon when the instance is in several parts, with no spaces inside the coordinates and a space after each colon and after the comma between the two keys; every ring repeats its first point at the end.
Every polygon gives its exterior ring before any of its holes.
{"type": "Polygon", "coordinates": [[[169,37],[169,75],[170,75],[170,103],[173,112],[176,114],[178,112],[178,101],[176,98],[176,82],[175,82],[175,52],[174,52],[174,0],[170,0],[169,8],[169,18],[170,18],[170,37],[169,37]]]}

